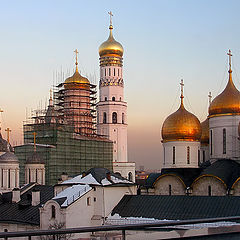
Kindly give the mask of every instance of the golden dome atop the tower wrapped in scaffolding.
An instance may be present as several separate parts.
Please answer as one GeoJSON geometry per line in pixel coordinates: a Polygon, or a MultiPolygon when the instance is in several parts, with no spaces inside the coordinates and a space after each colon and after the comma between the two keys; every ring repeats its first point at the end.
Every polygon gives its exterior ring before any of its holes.
{"type": "Polygon", "coordinates": [[[81,76],[81,74],[78,72],[78,67],[76,63],[76,71],[71,77],[65,80],[64,88],[89,88],[89,86],[89,80],[81,76]]]}

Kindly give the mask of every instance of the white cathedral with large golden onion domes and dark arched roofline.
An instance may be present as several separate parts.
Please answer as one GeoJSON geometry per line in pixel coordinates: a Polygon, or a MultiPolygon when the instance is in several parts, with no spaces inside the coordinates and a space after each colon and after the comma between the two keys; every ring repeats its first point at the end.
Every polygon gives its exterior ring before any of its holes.
{"type": "Polygon", "coordinates": [[[228,83],[202,123],[186,110],[181,81],[180,106],[162,125],[163,168],[149,175],[147,194],[240,195],[240,92],[228,56],[228,83]]]}

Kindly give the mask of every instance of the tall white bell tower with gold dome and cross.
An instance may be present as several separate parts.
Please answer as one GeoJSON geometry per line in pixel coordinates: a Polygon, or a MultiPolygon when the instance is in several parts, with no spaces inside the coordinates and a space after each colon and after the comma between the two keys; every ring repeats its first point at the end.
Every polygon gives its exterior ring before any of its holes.
{"type": "MultiPolygon", "coordinates": [[[[111,12],[109,13],[112,16],[111,12]]],[[[135,179],[135,163],[127,156],[127,102],[124,99],[123,47],[110,34],[99,47],[100,81],[97,133],[113,141],[113,171],[135,179]]]]}

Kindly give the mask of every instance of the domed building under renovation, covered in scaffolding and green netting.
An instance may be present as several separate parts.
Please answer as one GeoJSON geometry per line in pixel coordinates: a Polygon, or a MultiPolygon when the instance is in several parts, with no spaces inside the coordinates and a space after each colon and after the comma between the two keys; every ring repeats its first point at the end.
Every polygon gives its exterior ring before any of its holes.
{"type": "Polygon", "coordinates": [[[79,73],[75,53],[74,74],[56,86],[47,109],[35,111],[23,126],[24,145],[15,147],[20,183],[33,151],[45,162],[46,184],[55,184],[63,173],[73,176],[92,167],[112,170],[112,141],[96,134],[96,85],[79,73]]]}

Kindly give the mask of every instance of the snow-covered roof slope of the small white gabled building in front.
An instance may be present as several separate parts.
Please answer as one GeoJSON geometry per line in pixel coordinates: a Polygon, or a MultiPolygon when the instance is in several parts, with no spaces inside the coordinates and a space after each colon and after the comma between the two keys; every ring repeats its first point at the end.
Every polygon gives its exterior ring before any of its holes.
{"type": "Polygon", "coordinates": [[[80,197],[82,197],[85,193],[89,192],[92,189],[89,185],[73,185],[71,187],[66,188],[57,196],[53,198],[53,200],[57,200],[60,198],[66,198],[65,201],[61,204],[61,207],[67,207],[80,197]]]}

